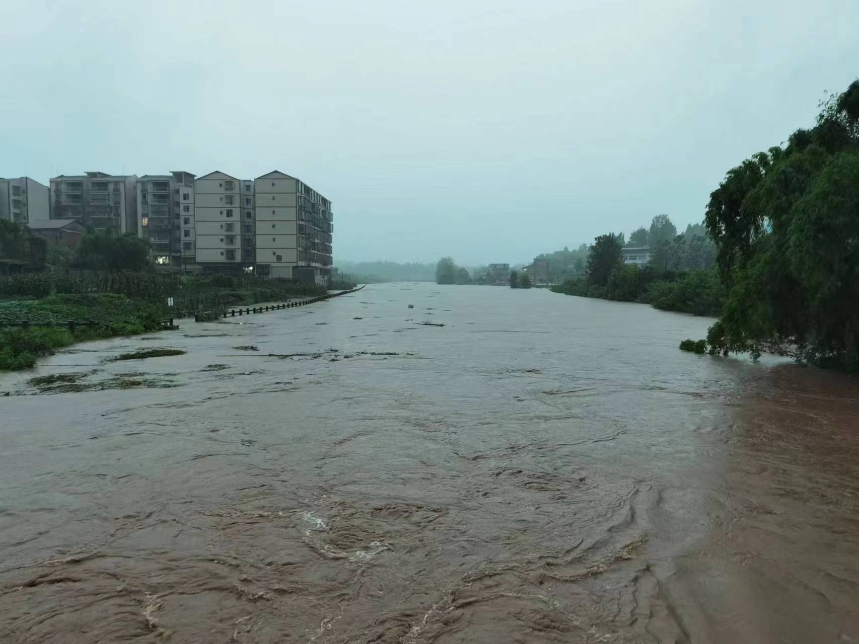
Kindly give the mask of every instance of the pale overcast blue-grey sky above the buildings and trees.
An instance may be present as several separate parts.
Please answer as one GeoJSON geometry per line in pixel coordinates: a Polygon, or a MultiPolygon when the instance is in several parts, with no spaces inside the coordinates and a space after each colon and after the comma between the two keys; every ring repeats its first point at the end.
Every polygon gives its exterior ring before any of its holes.
{"type": "Polygon", "coordinates": [[[0,176],[293,174],[341,259],[528,261],[667,213],[859,75],[855,0],[0,3],[0,176]]]}

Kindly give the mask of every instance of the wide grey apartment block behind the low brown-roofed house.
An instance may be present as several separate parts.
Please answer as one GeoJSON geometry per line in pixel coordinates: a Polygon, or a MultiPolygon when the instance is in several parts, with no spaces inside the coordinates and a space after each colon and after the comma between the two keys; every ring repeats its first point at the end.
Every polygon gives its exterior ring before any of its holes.
{"type": "Polygon", "coordinates": [[[88,172],[51,179],[51,218],[79,219],[92,228],[137,232],[137,175],[88,172]]]}

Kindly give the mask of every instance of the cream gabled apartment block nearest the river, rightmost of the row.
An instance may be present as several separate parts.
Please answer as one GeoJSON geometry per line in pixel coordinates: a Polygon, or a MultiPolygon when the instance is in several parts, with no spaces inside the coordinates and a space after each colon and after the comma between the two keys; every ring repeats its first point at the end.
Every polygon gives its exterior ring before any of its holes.
{"type": "Polygon", "coordinates": [[[277,170],[254,184],[257,274],[325,283],[332,265],[331,202],[277,170]]]}

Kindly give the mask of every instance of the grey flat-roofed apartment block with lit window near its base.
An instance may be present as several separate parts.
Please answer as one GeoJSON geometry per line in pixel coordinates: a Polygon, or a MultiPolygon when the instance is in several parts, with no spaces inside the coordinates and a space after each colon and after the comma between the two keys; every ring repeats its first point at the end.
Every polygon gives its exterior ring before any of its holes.
{"type": "Polygon", "coordinates": [[[194,175],[184,170],[137,179],[137,236],[149,240],[157,267],[194,264],[194,175]]]}

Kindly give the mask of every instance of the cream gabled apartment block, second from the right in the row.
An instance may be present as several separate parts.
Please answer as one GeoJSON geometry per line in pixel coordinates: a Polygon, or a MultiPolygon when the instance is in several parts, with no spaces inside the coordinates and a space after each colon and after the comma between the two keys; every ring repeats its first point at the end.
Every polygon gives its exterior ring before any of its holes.
{"type": "Polygon", "coordinates": [[[242,224],[253,226],[252,208],[253,180],[213,172],[194,182],[195,256],[203,270],[253,266],[253,247],[242,243],[242,224]]]}

